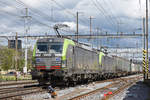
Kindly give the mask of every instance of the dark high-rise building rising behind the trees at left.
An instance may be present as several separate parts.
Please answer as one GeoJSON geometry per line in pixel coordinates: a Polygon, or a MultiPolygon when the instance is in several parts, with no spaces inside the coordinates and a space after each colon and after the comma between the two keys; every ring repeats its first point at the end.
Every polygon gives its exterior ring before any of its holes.
{"type": "MultiPolygon", "coordinates": [[[[16,40],[8,40],[8,48],[16,48],[16,40]]],[[[18,40],[18,49],[22,49],[22,41],[18,40]]]]}

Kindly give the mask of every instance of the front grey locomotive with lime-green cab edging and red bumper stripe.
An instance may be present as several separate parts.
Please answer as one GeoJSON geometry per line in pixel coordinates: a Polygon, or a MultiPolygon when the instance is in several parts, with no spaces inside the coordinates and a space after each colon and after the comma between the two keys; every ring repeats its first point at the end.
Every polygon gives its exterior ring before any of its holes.
{"type": "Polygon", "coordinates": [[[39,39],[34,47],[32,78],[39,83],[71,83],[98,78],[99,55],[91,47],[65,38],[39,39]]]}

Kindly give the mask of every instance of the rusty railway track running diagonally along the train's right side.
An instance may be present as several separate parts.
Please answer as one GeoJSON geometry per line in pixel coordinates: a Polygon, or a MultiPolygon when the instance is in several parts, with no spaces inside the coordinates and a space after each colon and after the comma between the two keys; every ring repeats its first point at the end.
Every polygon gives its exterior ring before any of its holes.
{"type": "MultiPolygon", "coordinates": [[[[123,89],[129,87],[134,84],[137,80],[141,79],[141,76],[138,77],[129,77],[129,78],[117,78],[104,80],[103,82],[111,82],[110,84],[103,86],[101,88],[97,88],[94,90],[88,89],[76,89],[72,92],[69,92],[65,95],[58,96],[56,99],[51,100],[108,100],[112,96],[116,95],[123,89]],[[104,94],[111,93],[107,98],[104,98],[104,94]],[[97,99],[96,99],[96,98],[97,99]]],[[[103,83],[99,82],[99,83],[103,83]]]]}

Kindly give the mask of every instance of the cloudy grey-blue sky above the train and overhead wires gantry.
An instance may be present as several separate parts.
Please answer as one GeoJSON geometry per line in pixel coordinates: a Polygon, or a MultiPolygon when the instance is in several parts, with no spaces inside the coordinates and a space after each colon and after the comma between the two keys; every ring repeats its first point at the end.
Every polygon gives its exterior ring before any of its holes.
{"type": "MultiPolygon", "coordinates": [[[[102,32],[114,34],[118,31],[141,33],[138,29],[142,28],[142,17],[145,16],[145,0],[0,0],[1,35],[14,35],[14,32],[24,34],[25,8],[28,8],[30,16],[26,24],[30,26],[29,34],[34,35],[55,34],[51,27],[57,23],[67,24],[70,27],[67,30],[75,31],[77,11],[80,34],[89,33],[90,16],[93,18],[93,32],[99,28],[102,32]]],[[[139,44],[142,42],[141,39],[117,41],[125,41],[127,45],[135,45],[136,41],[139,41],[139,44]]]]}

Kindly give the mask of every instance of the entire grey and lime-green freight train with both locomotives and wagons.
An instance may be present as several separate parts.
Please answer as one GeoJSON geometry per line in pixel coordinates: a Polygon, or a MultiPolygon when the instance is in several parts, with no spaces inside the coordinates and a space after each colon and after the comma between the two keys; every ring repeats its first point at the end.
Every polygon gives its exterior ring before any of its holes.
{"type": "Polygon", "coordinates": [[[89,82],[141,72],[141,66],[67,38],[43,38],[33,50],[32,78],[52,85],[89,82]]]}

